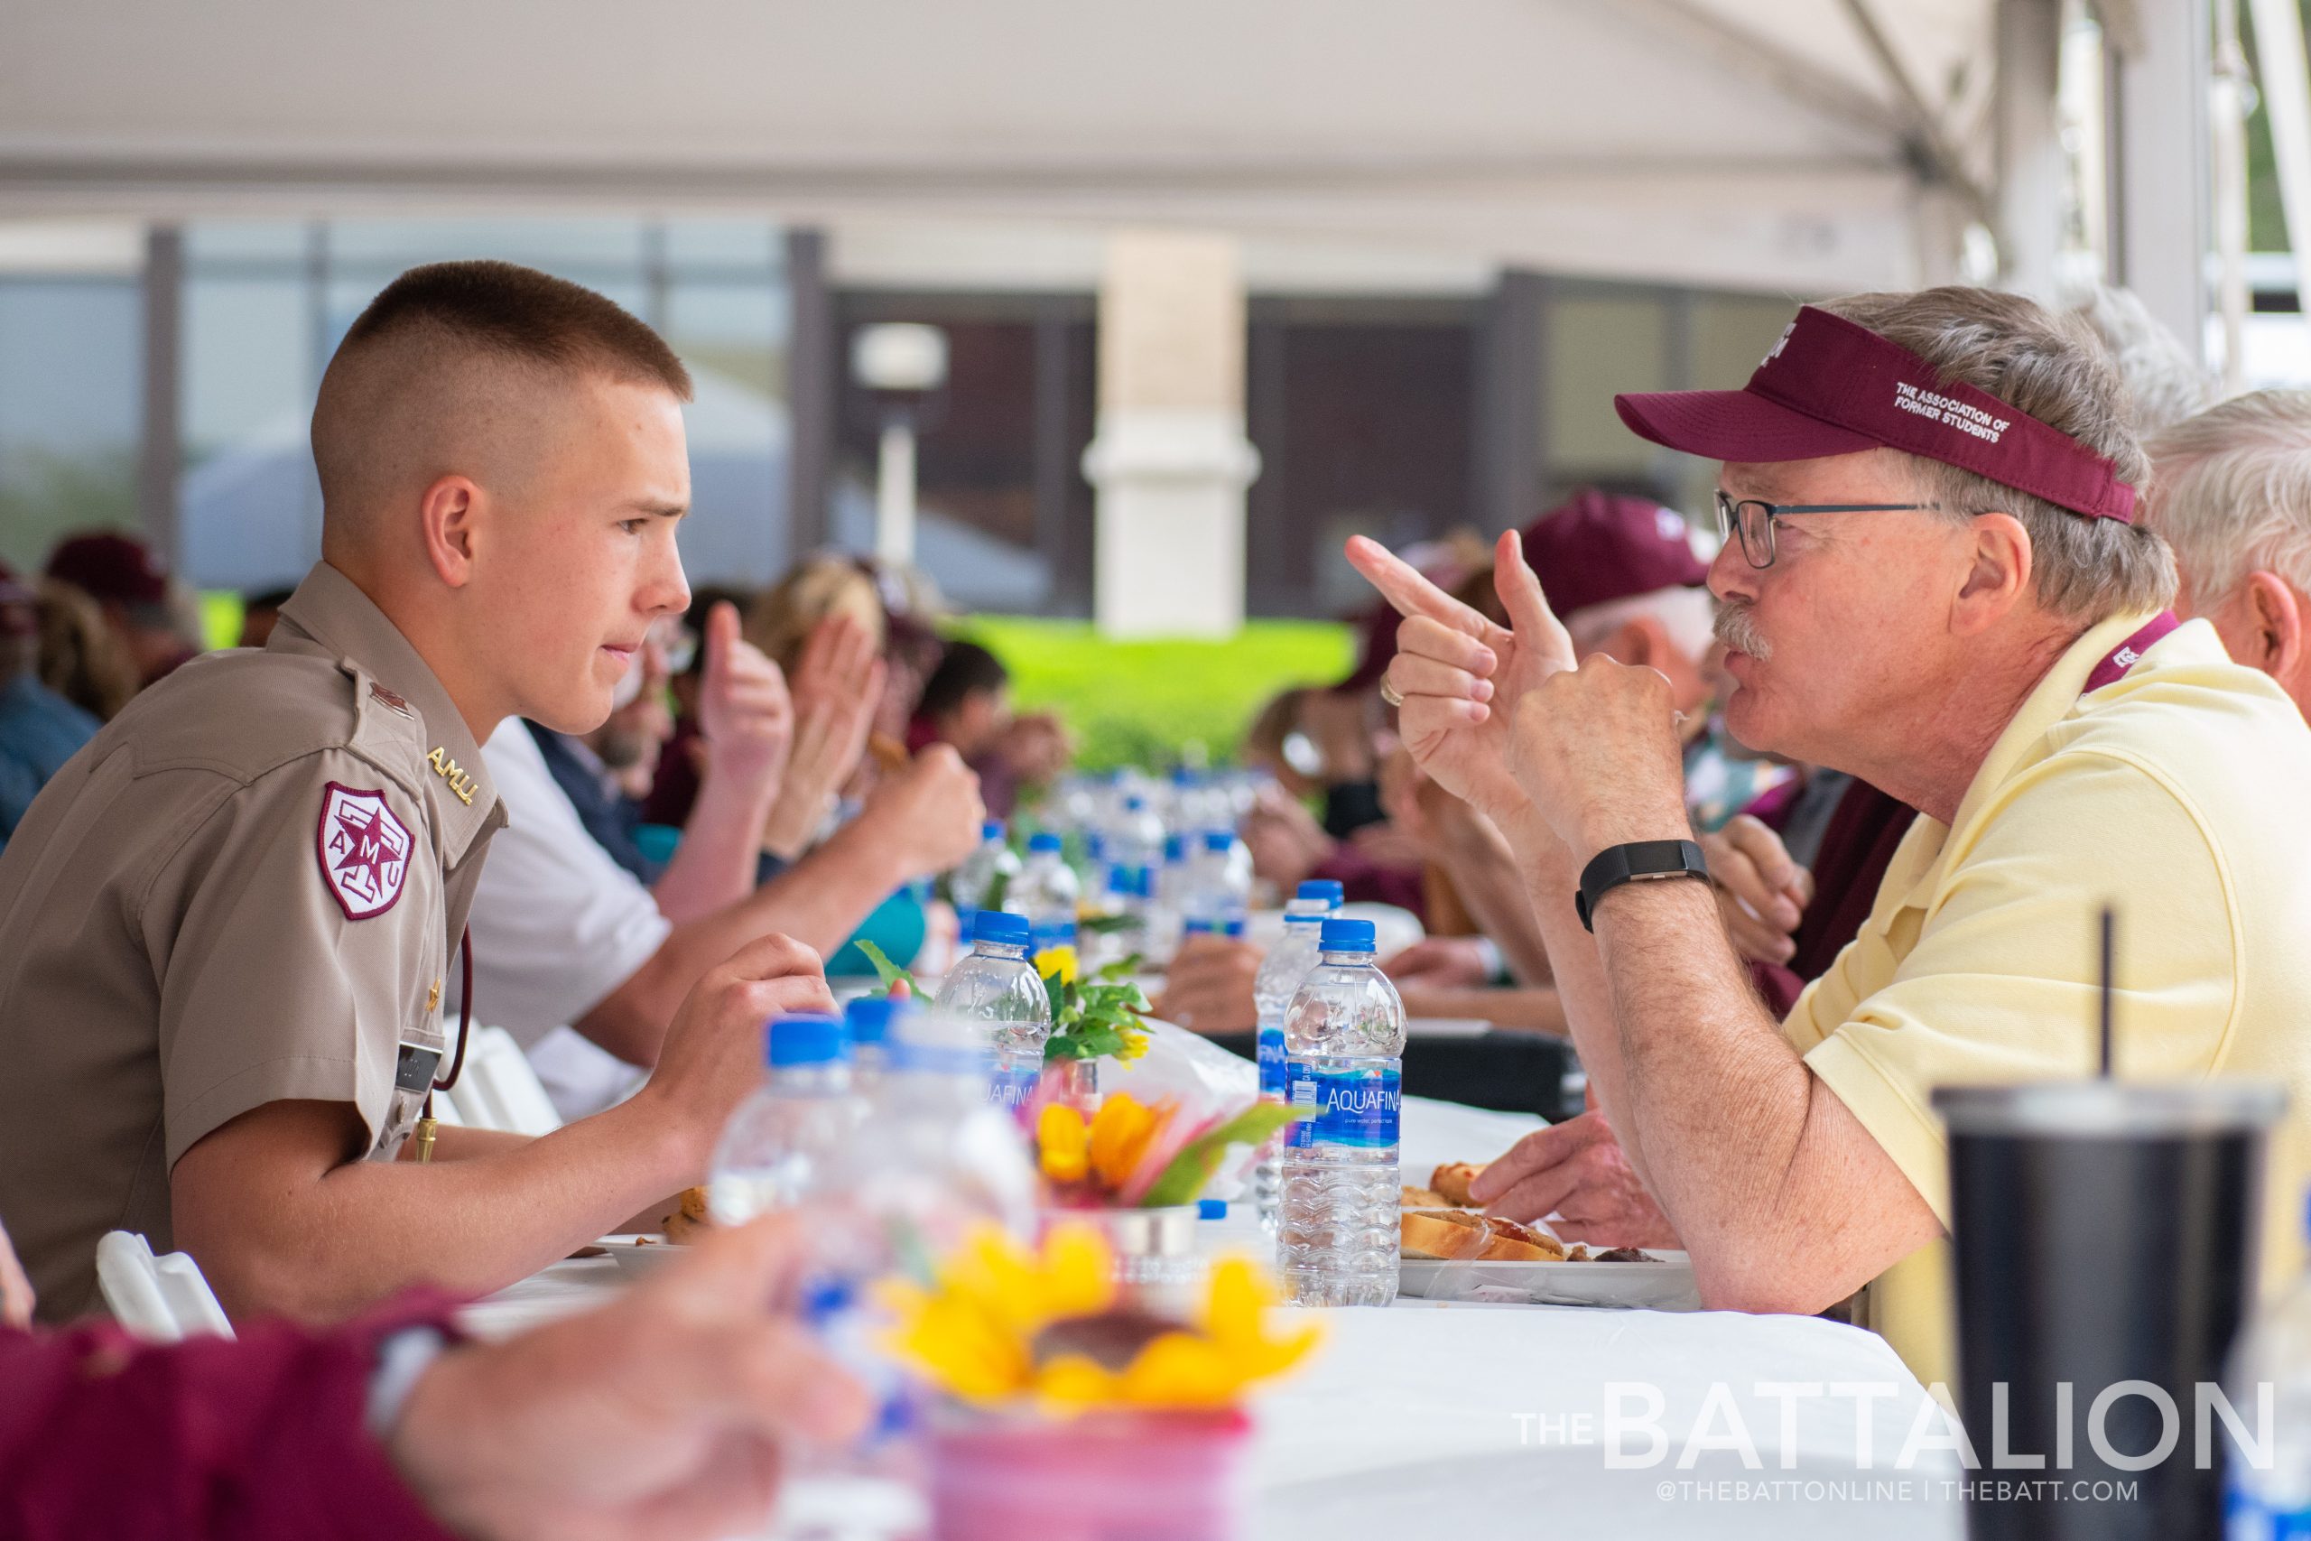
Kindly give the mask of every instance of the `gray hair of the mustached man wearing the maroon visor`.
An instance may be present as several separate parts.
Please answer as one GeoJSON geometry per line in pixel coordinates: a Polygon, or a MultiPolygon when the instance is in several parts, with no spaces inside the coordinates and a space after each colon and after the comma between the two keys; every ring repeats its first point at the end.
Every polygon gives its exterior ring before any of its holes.
{"type": "MultiPolygon", "coordinates": [[[[2128,423],[2126,386],[2073,314],[2054,314],[2018,293],[1992,289],[1918,289],[1849,293],[1821,310],[1865,326],[1941,372],[2027,411],[2117,467],[2138,490],[2149,460],[2128,423]]],[[[1920,497],[1950,518],[2011,513],[2029,531],[2031,587],[2038,605],[2073,624],[2145,615],[2175,598],[2175,552],[2154,531],[2091,520],[1978,471],[1909,455],[1920,497]]]]}

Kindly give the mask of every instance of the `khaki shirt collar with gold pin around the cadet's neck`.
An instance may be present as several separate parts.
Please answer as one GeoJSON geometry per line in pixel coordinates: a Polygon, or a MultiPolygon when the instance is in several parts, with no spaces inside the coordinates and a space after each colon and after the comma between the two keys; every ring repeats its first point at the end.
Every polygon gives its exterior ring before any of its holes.
{"type": "MultiPolygon", "coordinates": [[[[490,783],[490,767],[481,758],[481,744],[465,725],[465,714],[441,688],[432,665],[377,608],[377,601],[361,591],[361,585],[326,561],[312,564],[305,582],[282,603],[282,624],[275,628],[275,638],[268,642],[268,652],[305,652],[303,645],[312,645],[340,663],[356,665],[407,700],[418,721],[425,723],[428,751],[437,751],[444,762],[471,776],[471,802],[451,790],[446,774],[423,776],[448,866],[465,859],[476,836],[506,822],[497,788],[490,783]]],[[[428,767],[428,772],[432,769],[428,767]]]]}

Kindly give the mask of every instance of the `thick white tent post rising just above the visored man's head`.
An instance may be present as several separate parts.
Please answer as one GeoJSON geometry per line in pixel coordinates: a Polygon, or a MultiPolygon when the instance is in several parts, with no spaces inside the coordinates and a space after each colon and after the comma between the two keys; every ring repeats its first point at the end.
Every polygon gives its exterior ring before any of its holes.
{"type": "Polygon", "coordinates": [[[2119,60],[2117,273],[2193,358],[2207,351],[2207,0],[2138,5],[2119,60]]]}

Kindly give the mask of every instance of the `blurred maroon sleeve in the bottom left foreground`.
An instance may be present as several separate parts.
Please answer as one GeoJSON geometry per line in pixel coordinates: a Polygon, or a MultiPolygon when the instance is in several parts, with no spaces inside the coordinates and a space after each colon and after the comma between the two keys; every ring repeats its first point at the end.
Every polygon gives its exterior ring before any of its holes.
{"type": "Polygon", "coordinates": [[[102,1322],[0,1328],[9,1541],[448,1541],[363,1428],[377,1345],[439,1301],[305,1333],[136,1345],[102,1322]]]}

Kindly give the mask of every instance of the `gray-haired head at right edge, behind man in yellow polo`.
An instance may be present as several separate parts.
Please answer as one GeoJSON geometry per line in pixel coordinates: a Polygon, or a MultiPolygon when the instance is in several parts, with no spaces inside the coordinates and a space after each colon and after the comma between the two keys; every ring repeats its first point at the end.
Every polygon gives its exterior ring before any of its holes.
{"type": "Polygon", "coordinates": [[[2311,390],[2251,390],[2158,432],[2152,527],[2182,568],[2177,615],[2311,716],[2311,390]]]}

